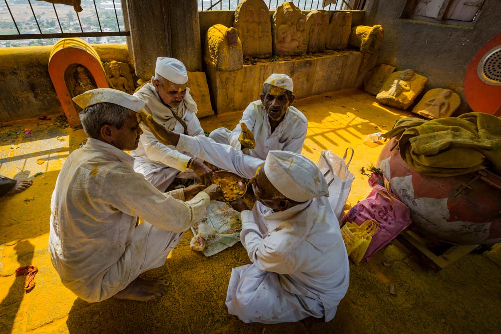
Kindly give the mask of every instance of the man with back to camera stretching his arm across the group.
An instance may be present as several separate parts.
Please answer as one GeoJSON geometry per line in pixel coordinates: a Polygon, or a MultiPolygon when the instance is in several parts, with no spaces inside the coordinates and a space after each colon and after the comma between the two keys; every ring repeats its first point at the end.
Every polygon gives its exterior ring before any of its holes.
{"type": "Polygon", "coordinates": [[[163,131],[145,123],[165,143],[250,178],[258,200],[241,200],[240,240],[252,264],[234,268],[226,296],[230,314],[244,322],[280,323],[313,316],[330,321],[346,294],[349,264],[326,181],[306,157],[270,151],[263,160],[209,138],[163,131]],[[158,131],[157,131],[158,129],[158,131]]]}

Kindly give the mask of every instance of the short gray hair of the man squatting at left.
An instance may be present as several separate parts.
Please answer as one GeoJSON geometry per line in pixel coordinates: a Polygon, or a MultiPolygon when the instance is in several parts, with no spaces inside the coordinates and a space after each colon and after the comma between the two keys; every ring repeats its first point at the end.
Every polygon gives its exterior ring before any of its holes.
{"type": "Polygon", "coordinates": [[[129,118],[130,111],[130,109],[118,104],[102,102],[82,110],[79,118],[87,136],[99,138],[103,125],[111,125],[121,129],[129,118]]]}

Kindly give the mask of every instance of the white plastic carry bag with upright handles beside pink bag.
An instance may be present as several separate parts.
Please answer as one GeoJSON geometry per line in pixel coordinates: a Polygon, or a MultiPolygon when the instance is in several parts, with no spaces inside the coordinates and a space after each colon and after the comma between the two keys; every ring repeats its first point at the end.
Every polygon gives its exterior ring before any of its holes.
{"type": "Polygon", "coordinates": [[[331,205],[334,214],[341,222],[343,218],[343,208],[350,194],[351,184],[355,176],[348,170],[351,159],[353,159],[354,150],[348,147],[343,155],[343,158],[338,157],[329,150],[322,151],[317,167],[324,174],[325,180],[329,187],[329,204],[331,205]],[[351,151],[351,156],[346,162],[348,151],[351,151]]]}

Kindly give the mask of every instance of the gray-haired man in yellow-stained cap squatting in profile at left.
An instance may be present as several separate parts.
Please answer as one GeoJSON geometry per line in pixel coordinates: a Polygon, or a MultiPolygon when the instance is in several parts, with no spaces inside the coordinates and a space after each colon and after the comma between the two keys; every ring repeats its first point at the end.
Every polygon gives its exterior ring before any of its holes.
{"type": "Polygon", "coordinates": [[[155,298],[166,282],[138,276],[165,263],[220,188],[162,193],[134,171],[134,158],[123,150],[134,150],[142,134],[141,99],[98,88],[73,101],[83,109],[89,138],[66,159],[52,194],[52,263],[62,283],[85,301],[155,298]],[[137,225],[138,217],[145,221],[137,225]]]}

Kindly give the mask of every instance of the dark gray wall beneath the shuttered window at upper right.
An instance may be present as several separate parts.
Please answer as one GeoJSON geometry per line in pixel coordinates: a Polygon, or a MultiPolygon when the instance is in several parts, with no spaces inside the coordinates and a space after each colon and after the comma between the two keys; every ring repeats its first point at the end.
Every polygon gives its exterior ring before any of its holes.
{"type": "Polygon", "coordinates": [[[380,24],[384,29],[379,63],[395,66],[397,71],[411,68],[428,77],[425,91],[452,89],[461,97],[459,113],[470,111],[464,98],[464,76],[477,51],[501,32],[501,1],[485,0],[473,27],[401,19],[406,3],[367,1],[363,24],[380,24]]]}

